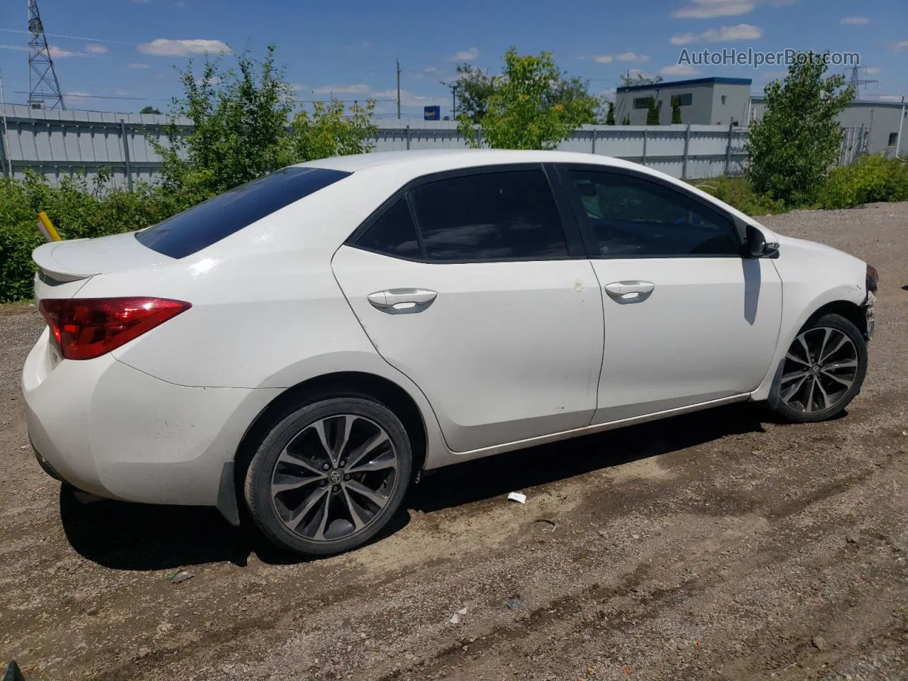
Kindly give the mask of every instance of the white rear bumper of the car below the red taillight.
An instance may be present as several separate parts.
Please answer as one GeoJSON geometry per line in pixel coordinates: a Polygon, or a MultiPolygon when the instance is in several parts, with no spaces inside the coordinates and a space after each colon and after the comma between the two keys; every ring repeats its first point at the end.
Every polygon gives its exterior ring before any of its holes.
{"type": "Polygon", "coordinates": [[[114,359],[25,360],[29,438],[52,477],[100,497],[215,506],[243,433],[280,390],[189,388],[114,359]]]}

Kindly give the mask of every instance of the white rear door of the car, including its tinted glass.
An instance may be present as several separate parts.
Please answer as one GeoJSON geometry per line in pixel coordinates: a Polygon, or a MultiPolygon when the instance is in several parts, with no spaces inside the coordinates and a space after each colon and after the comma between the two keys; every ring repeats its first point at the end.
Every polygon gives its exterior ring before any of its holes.
{"type": "Polygon", "coordinates": [[[411,183],[331,266],[376,350],[429,399],[452,450],[589,425],[602,294],[541,164],[411,183]]]}

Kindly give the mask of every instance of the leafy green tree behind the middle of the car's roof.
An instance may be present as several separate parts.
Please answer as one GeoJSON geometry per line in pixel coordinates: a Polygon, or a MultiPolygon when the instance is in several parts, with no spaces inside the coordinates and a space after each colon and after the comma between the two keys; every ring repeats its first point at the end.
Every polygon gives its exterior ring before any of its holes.
{"type": "MultiPolygon", "coordinates": [[[[479,120],[482,142],[496,149],[553,149],[578,125],[595,120],[597,100],[587,94],[587,83],[566,77],[550,52],[521,56],[511,47],[504,61],[479,120]]],[[[459,132],[479,146],[474,123],[461,110],[459,132]]]]}

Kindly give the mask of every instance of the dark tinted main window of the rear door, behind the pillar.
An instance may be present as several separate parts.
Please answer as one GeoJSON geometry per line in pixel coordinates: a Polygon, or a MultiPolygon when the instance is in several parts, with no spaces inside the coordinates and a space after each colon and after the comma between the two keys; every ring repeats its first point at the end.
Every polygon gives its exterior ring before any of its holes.
{"type": "Polygon", "coordinates": [[[567,257],[568,244],[541,170],[480,173],[412,192],[429,260],[567,257]]]}

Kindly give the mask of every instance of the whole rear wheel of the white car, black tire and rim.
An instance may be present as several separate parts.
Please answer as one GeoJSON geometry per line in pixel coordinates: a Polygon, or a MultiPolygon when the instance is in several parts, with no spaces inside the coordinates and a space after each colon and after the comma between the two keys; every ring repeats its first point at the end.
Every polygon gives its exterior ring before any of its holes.
{"type": "Polygon", "coordinates": [[[388,524],[410,486],[412,460],[407,430],[380,402],[311,402],[262,441],[246,472],[246,505],[274,543],[331,556],[388,524]]]}

